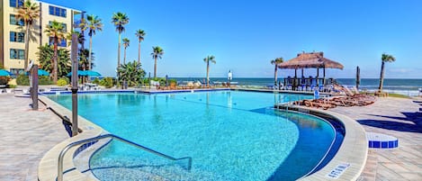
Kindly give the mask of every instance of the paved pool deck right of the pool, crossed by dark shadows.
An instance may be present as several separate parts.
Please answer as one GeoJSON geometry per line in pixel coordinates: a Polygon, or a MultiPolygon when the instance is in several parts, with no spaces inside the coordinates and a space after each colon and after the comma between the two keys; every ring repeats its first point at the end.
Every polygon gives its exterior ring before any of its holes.
{"type": "Polygon", "coordinates": [[[399,139],[398,149],[369,149],[358,180],[422,180],[422,99],[378,98],[368,106],[337,107],[364,126],[399,139]]]}

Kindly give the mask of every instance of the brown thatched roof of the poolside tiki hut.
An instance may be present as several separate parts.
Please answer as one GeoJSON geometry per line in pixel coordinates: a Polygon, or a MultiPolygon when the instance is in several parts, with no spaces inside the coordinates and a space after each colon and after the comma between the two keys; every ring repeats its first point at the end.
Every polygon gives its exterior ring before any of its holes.
{"type": "Polygon", "coordinates": [[[324,52],[299,53],[298,57],[277,65],[278,68],[338,68],[343,65],[337,61],[324,58],[324,52]]]}

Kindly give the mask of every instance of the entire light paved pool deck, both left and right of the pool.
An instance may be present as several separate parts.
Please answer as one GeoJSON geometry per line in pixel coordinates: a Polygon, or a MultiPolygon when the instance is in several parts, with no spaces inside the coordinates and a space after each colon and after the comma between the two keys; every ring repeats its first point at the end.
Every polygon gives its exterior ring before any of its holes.
{"type": "MultiPolygon", "coordinates": [[[[30,99],[1,94],[0,180],[36,180],[40,159],[68,139],[61,120],[45,110],[31,111],[30,99]],[[34,144],[36,142],[36,144],[34,144]]],[[[363,125],[399,139],[398,149],[369,149],[358,180],[422,180],[422,99],[379,98],[368,106],[337,107],[363,125]]]]}

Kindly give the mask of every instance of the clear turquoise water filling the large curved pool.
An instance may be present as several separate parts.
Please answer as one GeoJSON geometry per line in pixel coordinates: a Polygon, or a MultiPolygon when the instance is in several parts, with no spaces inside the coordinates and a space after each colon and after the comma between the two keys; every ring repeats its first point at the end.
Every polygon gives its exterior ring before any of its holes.
{"type": "MultiPolygon", "coordinates": [[[[71,107],[70,95],[49,98],[71,107]]],[[[295,180],[315,167],[335,132],[319,118],[274,111],[274,103],[310,98],[239,91],[79,95],[79,114],[112,134],[175,158],[117,140],[90,167],[101,180],[295,180]]]]}

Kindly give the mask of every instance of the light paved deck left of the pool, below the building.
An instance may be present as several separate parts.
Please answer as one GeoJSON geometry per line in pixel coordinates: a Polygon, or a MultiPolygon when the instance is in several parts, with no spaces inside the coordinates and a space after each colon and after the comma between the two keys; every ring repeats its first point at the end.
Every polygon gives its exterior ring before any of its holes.
{"type": "Polygon", "coordinates": [[[30,99],[13,94],[0,94],[0,103],[0,180],[37,180],[40,159],[67,131],[43,104],[32,111],[30,99]]]}

